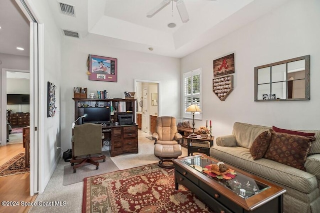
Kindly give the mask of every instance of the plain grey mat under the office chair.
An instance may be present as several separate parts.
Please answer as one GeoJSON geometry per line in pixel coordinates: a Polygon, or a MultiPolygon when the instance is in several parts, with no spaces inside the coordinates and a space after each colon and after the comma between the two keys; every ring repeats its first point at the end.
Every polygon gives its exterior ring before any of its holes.
{"type": "Polygon", "coordinates": [[[106,157],[105,162],[99,161],[99,169],[95,169],[95,165],[86,164],[82,167],[76,169],[76,172],[73,173],[73,168],[71,164],[64,166],[63,171],[63,186],[75,184],[83,181],[86,177],[91,177],[95,175],[100,175],[108,172],[114,172],[119,170],[116,165],[111,161],[110,158],[106,157]]]}

